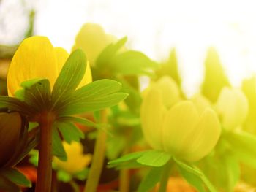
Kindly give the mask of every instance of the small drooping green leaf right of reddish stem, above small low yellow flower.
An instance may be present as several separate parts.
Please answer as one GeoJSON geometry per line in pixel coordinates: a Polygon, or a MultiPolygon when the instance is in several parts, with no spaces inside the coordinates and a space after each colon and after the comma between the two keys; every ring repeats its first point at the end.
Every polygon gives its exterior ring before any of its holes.
{"type": "Polygon", "coordinates": [[[84,134],[80,129],[70,122],[57,122],[56,127],[58,127],[59,131],[63,139],[67,143],[71,143],[72,141],[80,142],[80,139],[84,138],[84,134]]]}

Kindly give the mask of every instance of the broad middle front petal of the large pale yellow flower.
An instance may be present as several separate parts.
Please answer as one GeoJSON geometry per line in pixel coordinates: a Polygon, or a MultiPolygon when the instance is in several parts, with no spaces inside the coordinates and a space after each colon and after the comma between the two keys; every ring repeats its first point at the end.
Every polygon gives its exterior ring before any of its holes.
{"type": "Polygon", "coordinates": [[[192,101],[180,101],[170,108],[163,123],[162,140],[165,151],[176,156],[186,153],[183,144],[192,136],[198,120],[199,115],[192,101]]]}

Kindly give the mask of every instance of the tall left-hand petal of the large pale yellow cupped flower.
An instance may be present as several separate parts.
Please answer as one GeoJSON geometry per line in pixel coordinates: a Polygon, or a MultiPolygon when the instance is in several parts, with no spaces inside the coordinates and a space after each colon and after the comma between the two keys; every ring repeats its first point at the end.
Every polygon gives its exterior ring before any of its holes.
{"type": "Polygon", "coordinates": [[[156,150],[162,150],[162,122],[165,112],[161,93],[155,88],[148,90],[140,108],[141,126],[146,141],[156,150]]]}

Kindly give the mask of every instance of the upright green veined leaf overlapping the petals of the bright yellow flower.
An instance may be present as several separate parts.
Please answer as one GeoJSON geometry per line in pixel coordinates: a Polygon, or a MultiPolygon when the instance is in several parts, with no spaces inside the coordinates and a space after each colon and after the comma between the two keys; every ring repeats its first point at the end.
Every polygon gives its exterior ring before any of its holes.
{"type": "MultiPolygon", "coordinates": [[[[75,91],[86,72],[86,55],[83,50],[75,50],[69,55],[66,63],[61,69],[52,92],[55,104],[69,96],[75,91]]],[[[53,106],[55,105],[53,104],[53,106]]]]}

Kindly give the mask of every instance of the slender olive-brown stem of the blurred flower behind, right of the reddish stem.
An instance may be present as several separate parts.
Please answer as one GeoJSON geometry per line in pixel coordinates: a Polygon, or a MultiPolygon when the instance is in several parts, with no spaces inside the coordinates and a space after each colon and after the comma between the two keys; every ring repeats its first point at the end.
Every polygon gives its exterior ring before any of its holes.
{"type": "MultiPolygon", "coordinates": [[[[101,111],[101,122],[107,123],[108,115],[106,110],[101,111]]],[[[95,192],[97,191],[97,185],[99,183],[99,177],[102,172],[102,166],[105,158],[107,134],[104,130],[99,130],[97,134],[96,144],[94,147],[94,156],[91,162],[91,168],[88,179],[86,181],[86,187],[83,192],[95,192]]]]}

